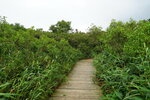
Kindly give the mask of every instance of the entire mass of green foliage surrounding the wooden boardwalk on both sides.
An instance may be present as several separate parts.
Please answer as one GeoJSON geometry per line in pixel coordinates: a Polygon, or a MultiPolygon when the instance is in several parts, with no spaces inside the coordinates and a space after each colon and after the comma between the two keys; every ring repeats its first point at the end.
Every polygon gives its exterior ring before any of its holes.
{"type": "Polygon", "coordinates": [[[112,20],[106,32],[94,25],[87,34],[67,34],[70,25],[59,21],[51,33],[0,17],[0,99],[43,100],[77,60],[93,56],[103,99],[150,99],[149,20],[112,20]]]}

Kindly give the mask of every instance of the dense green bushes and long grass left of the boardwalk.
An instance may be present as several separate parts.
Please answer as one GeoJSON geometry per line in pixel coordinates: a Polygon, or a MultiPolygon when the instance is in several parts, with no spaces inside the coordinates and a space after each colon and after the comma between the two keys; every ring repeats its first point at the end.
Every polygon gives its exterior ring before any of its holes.
{"type": "Polygon", "coordinates": [[[44,33],[0,19],[0,99],[46,98],[82,57],[67,40],[44,33]]]}

